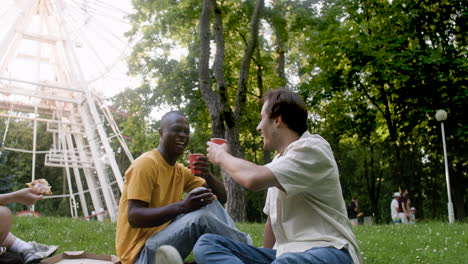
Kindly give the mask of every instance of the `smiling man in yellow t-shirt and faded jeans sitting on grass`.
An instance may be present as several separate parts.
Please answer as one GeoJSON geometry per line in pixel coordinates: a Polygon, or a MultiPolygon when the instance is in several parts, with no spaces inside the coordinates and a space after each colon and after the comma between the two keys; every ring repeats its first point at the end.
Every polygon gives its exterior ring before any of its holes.
{"type": "Polygon", "coordinates": [[[251,243],[216,200],[225,202],[226,190],[211,174],[207,158],[194,163],[200,171],[196,175],[177,162],[189,133],[183,113],[166,113],[157,149],[142,154],[125,172],[115,242],[122,263],[154,263],[162,245],[175,247],[185,258],[204,233],[251,243]]]}

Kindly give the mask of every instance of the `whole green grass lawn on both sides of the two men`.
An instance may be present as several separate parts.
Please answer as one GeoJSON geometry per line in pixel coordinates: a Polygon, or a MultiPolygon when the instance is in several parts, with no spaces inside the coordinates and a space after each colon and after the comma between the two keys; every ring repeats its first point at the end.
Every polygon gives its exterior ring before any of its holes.
{"type": "MultiPolygon", "coordinates": [[[[263,224],[238,224],[255,246],[263,241],[263,224]]],[[[460,264],[468,260],[468,224],[442,222],[416,225],[355,227],[365,264],[460,264]]],[[[17,217],[12,232],[26,241],[59,246],[59,251],[85,250],[115,255],[115,224],[56,217],[17,217]]],[[[189,256],[189,259],[192,259],[189,256]]]]}

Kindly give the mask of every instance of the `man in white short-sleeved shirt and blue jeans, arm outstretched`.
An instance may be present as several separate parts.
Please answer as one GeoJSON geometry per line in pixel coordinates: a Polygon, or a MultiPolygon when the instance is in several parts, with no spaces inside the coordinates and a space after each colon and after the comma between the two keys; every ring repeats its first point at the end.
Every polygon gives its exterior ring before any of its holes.
{"type": "Polygon", "coordinates": [[[264,247],[214,234],[199,238],[197,263],[361,263],[330,145],[307,131],[307,107],[296,93],[280,88],[263,99],[257,126],[274,160],[256,165],[208,142],[208,158],[242,186],[268,189],[264,247]]]}

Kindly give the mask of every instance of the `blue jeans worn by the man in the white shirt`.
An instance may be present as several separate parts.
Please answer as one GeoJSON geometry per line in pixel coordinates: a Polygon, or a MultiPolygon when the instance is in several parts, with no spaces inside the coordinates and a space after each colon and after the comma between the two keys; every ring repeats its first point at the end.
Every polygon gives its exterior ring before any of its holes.
{"type": "Polygon", "coordinates": [[[193,249],[198,264],[353,264],[346,249],[315,247],[304,252],[288,252],[276,258],[276,250],[258,248],[222,236],[205,234],[193,249]]]}

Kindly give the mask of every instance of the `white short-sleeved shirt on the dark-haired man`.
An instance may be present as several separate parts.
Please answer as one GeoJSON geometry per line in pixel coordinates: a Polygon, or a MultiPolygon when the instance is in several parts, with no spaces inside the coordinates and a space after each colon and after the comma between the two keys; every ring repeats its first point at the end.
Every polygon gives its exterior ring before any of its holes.
{"type": "Polygon", "coordinates": [[[354,263],[361,263],[328,142],[306,131],[265,166],[285,190],[269,188],[263,209],[276,237],[277,257],[331,246],[347,248],[354,263]]]}

